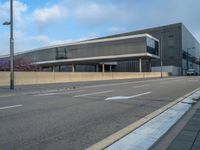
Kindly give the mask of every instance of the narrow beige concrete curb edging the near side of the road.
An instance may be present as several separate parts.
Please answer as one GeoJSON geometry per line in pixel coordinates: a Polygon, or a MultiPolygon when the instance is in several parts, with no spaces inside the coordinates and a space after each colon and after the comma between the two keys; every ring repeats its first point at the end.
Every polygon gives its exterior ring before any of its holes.
{"type": "Polygon", "coordinates": [[[102,149],[107,148],[108,146],[112,145],[116,141],[120,140],[121,138],[123,138],[124,136],[126,136],[127,134],[132,132],[133,130],[137,129],[141,125],[143,125],[146,122],[150,121],[151,119],[155,118],[159,114],[163,113],[167,109],[169,109],[172,106],[176,105],[177,103],[179,103],[180,101],[182,101],[186,97],[192,95],[193,93],[197,92],[198,90],[200,90],[200,88],[197,88],[194,91],[184,95],[183,97],[180,97],[177,100],[165,105],[164,107],[152,112],[151,114],[149,114],[149,115],[145,116],[144,118],[134,122],[133,124],[123,128],[122,130],[110,135],[109,137],[103,139],[102,141],[100,141],[100,142],[88,147],[86,150],[102,150],[102,149]]]}

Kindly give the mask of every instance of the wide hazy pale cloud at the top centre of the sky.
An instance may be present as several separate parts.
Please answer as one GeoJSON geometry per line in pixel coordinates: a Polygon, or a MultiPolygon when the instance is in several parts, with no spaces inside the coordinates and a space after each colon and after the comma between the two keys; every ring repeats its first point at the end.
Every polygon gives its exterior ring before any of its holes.
{"type": "Polygon", "coordinates": [[[117,22],[131,22],[135,17],[129,10],[124,10],[118,5],[87,2],[75,6],[74,18],[79,23],[100,26],[117,22]]]}

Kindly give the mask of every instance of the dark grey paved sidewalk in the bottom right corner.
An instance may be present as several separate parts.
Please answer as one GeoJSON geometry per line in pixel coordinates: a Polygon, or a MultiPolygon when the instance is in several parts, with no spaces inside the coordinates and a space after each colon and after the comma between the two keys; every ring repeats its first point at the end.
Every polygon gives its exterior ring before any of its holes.
{"type": "Polygon", "coordinates": [[[200,150],[200,108],[168,146],[168,150],[200,150]]]}

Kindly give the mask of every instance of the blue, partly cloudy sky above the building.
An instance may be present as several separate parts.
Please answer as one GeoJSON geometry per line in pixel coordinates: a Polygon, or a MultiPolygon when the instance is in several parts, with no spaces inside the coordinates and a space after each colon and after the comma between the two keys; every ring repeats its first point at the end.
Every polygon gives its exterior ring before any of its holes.
{"type": "MultiPolygon", "coordinates": [[[[200,0],[14,0],[15,52],[182,22],[200,41],[200,0]]],[[[0,55],[9,53],[0,0],[0,55]]]]}

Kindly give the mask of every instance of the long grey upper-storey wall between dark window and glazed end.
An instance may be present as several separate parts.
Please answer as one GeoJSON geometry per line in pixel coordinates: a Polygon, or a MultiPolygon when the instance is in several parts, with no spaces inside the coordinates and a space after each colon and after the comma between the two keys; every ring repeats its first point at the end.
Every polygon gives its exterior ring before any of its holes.
{"type": "Polygon", "coordinates": [[[146,53],[146,37],[88,43],[67,47],[68,58],[146,53]]]}

